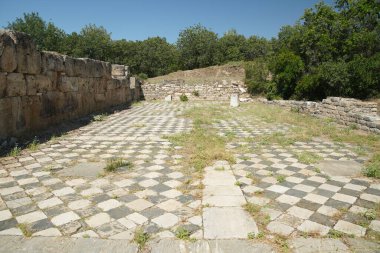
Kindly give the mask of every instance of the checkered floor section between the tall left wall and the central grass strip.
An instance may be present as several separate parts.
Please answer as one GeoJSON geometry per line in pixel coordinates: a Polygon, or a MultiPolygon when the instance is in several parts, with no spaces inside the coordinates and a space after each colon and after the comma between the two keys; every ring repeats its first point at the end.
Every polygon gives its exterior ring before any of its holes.
{"type": "MultiPolygon", "coordinates": [[[[186,225],[202,237],[196,213],[201,201],[177,188],[187,181],[180,156],[169,157],[171,144],[160,136],[191,129],[176,115],[186,104],[147,104],[93,122],[58,140],[1,159],[0,235],[132,239],[138,226],[173,237],[186,225]],[[96,164],[112,157],[133,162],[104,177],[66,177],[76,164],[96,164]]],[[[89,166],[90,165],[90,166],[89,166]]],[[[86,166],[85,166],[86,167],[86,166]]]]}

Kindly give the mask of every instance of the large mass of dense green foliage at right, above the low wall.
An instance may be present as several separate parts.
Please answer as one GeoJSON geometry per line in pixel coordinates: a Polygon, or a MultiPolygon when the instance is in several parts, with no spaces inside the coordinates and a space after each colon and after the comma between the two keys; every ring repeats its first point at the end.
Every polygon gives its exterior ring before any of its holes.
{"type": "Polygon", "coordinates": [[[336,8],[318,3],[296,25],[284,26],[274,45],[278,93],[311,100],[379,96],[379,12],[375,0],[336,0],[336,8]],[[284,59],[284,51],[293,56],[284,59]]]}

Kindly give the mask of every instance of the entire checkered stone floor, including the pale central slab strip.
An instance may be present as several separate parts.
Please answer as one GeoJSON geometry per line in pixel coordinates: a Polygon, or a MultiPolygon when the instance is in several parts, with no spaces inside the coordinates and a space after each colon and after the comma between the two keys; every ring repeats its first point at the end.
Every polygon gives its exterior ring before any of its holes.
{"type": "MultiPolygon", "coordinates": [[[[152,238],[164,239],[175,238],[180,226],[191,238],[208,240],[245,239],[249,233],[288,238],[325,236],[331,231],[355,237],[380,233],[380,221],[363,215],[378,208],[379,181],[360,175],[329,176],[299,158],[312,152],[326,161],[363,164],[366,157],[358,156],[350,145],[315,139],[287,147],[258,147],[242,139],[226,147],[236,154],[236,164],[218,161],[205,168],[203,181],[193,180],[186,191],[181,190],[191,175],[182,170],[183,157],[171,152],[180,147],[164,137],[191,130],[191,120],[180,116],[191,106],[143,103],[40,144],[37,150],[0,158],[0,236],[27,232],[32,237],[131,241],[139,227],[152,238]],[[108,174],[95,169],[112,157],[131,161],[133,168],[108,174]],[[247,202],[262,206],[268,217],[265,227],[258,227],[245,212],[242,206],[247,202]]],[[[254,140],[286,133],[292,126],[264,123],[254,116],[248,121],[237,114],[214,127],[220,135],[254,140]]],[[[307,252],[299,250],[305,242],[292,243],[294,251],[307,252]]],[[[339,243],[334,244],[337,252],[351,247],[339,243]]],[[[315,245],[324,252],[320,242],[315,245]]],[[[267,246],[252,252],[273,252],[267,246]]]]}

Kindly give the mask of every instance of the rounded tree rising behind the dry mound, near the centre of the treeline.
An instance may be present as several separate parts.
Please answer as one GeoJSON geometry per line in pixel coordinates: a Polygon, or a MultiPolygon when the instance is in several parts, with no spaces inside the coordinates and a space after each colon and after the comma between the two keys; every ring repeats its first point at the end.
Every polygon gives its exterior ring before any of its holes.
{"type": "Polygon", "coordinates": [[[218,36],[198,24],[180,32],[177,48],[181,67],[194,69],[217,63],[218,36]]]}

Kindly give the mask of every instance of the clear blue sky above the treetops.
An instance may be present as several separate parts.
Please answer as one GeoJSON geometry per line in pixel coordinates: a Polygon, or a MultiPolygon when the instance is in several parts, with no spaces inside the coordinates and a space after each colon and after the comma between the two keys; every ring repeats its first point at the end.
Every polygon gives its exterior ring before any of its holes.
{"type": "MultiPolygon", "coordinates": [[[[245,36],[275,37],[319,0],[0,0],[0,27],[38,12],[67,33],[86,24],[102,25],[112,39],[166,37],[175,42],[181,30],[197,23],[220,36],[235,28],[245,36]]],[[[333,0],[325,0],[333,4],[333,0]]]]}

